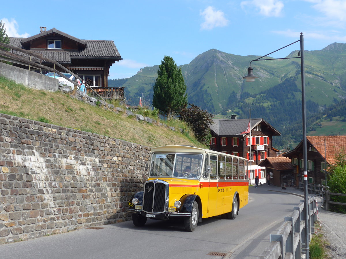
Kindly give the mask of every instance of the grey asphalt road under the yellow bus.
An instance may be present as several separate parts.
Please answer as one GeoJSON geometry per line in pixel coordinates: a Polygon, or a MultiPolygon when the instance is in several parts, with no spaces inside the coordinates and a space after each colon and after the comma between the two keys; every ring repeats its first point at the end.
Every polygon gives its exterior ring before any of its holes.
{"type": "Polygon", "coordinates": [[[2,244],[0,258],[221,258],[207,255],[210,252],[256,258],[302,198],[267,185],[249,191],[250,201],[235,220],[203,219],[194,232],[186,232],[183,222],[148,219],[139,228],[127,221],[2,244]]]}

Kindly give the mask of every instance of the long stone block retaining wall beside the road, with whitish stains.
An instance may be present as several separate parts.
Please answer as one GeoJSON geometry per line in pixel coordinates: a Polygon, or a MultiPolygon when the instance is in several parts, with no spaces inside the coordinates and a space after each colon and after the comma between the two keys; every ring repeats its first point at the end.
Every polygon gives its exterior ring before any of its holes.
{"type": "Polygon", "coordinates": [[[0,114],[0,244],[128,220],[150,151],[0,114]]]}

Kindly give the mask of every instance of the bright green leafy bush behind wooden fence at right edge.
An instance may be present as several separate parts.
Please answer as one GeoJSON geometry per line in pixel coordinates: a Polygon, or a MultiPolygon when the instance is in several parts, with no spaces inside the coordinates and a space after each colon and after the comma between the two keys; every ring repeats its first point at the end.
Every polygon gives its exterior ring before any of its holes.
{"type": "MultiPolygon", "coordinates": [[[[345,150],[341,151],[336,157],[336,164],[330,167],[330,175],[328,177],[328,185],[330,192],[346,194],[346,153],[345,150]]],[[[345,196],[331,196],[331,200],[335,202],[346,203],[345,196]]],[[[330,209],[335,212],[342,212],[346,214],[346,206],[344,205],[330,205],[330,209]]]]}

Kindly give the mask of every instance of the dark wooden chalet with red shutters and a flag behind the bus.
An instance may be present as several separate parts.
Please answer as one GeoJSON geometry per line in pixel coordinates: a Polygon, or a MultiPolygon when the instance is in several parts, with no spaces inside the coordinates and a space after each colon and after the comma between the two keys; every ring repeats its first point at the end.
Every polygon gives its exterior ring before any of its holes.
{"type": "Polygon", "coordinates": [[[237,155],[249,160],[249,179],[254,182],[258,175],[260,182],[266,182],[265,167],[259,166],[267,157],[276,157],[279,152],[273,147],[273,136],[281,133],[264,119],[215,119],[210,125],[210,149],[237,155]]]}

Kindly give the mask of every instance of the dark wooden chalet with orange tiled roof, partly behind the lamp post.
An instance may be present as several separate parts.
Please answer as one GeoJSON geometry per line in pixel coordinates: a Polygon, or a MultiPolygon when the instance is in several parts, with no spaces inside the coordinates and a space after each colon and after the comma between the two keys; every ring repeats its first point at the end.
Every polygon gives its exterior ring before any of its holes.
{"type": "MultiPolygon", "coordinates": [[[[336,163],[337,154],[346,152],[345,147],[346,136],[307,136],[308,182],[328,185],[326,168],[328,173],[328,167],[336,163]]],[[[295,178],[303,182],[303,142],[282,156],[291,159],[295,178]]]]}

